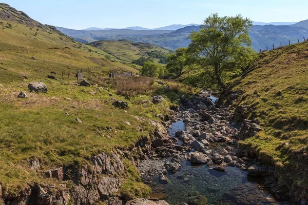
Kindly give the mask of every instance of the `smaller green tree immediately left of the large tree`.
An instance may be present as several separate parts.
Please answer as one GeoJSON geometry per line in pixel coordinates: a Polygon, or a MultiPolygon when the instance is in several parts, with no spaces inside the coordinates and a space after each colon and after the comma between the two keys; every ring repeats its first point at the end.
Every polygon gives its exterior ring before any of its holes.
{"type": "Polygon", "coordinates": [[[174,53],[168,56],[167,70],[170,73],[176,73],[180,77],[184,67],[188,64],[187,48],[178,48],[174,53]]]}

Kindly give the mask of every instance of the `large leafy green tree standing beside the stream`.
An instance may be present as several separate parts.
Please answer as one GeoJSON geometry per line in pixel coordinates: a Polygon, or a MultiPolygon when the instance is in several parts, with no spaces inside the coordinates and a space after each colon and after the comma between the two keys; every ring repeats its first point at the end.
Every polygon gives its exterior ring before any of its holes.
{"type": "Polygon", "coordinates": [[[195,63],[222,89],[226,80],[241,73],[256,56],[248,35],[252,26],[252,20],[241,15],[220,17],[216,13],[189,36],[188,49],[195,63]]]}

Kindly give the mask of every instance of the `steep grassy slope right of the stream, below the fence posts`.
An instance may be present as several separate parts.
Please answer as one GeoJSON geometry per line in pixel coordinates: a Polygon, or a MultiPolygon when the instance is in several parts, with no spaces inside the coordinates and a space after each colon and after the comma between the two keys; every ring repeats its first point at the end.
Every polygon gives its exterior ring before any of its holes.
{"type": "Polygon", "coordinates": [[[239,105],[264,131],[240,142],[277,168],[281,182],[307,189],[308,42],[263,52],[252,70],[230,84],[239,105]],[[253,149],[251,149],[253,148],[253,149]]]}

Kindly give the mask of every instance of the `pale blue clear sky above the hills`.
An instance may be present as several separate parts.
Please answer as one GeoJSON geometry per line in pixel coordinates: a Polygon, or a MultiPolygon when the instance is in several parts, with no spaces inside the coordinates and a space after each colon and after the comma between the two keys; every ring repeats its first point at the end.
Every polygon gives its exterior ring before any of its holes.
{"type": "Polygon", "coordinates": [[[5,3],[43,24],[71,29],[202,24],[209,14],[216,12],[242,14],[256,22],[308,19],[306,0],[7,0],[5,3]]]}

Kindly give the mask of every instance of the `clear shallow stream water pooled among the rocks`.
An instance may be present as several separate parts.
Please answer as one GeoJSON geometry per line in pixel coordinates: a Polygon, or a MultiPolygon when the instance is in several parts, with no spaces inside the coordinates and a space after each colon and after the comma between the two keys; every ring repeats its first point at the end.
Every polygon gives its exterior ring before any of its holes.
{"type": "MultiPolygon", "coordinates": [[[[178,130],[185,130],[184,122],[172,123],[171,137],[175,137],[178,130]]],[[[277,202],[262,188],[262,178],[251,178],[237,167],[226,167],[225,172],[218,172],[206,165],[192,166],[188,161],[182,161],[181,166],[175,174],[166,175],[167,184],[160,184],[157,176],[145,179],[155,190],[153,196],[162,196],[170,205],[188,203],[199,196],[205,196],[207,204],[286,204],[277,202]]]]}

